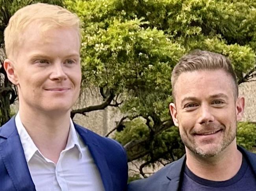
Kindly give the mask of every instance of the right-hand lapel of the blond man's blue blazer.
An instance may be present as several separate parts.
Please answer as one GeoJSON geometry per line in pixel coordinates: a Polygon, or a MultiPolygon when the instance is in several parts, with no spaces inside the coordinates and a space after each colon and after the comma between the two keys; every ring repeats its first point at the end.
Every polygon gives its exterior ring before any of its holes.
{"type": "Polygon", "coordinates": [[[93,156],[93,160],[98,167],[100,172],[100,176],[105,188],[105,191],[113,191],[113,181],[111,179],[111,171],[108,167],[106,156],[104,155],[104,150],[102,149],[102,145],[99,145],[98,139],[96,136],[87,131],[84,127],[80,127],[74,123],[76,131],[82,137],[85,145],[88,146],[91,155],[93,156]]]}

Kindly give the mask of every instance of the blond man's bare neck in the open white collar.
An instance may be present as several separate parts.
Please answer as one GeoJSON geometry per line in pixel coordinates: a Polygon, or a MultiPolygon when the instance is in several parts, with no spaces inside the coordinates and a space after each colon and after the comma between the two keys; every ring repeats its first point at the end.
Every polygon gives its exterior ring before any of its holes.
{"type": "Polygon", "coordinates": [[[70,111],[63,113],[35,111],[20,107],[20,120],[39,151],[57,163],[67,145],[70,111]]]}

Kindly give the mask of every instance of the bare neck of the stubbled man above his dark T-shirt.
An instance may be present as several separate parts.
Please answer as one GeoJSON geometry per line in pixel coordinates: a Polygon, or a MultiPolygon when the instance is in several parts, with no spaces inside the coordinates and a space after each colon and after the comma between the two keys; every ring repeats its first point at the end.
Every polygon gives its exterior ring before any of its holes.
{"type": "Polygon", "coordinates": [[[213,181],[229,180],[239,171],[243,156],[237,150],[236,139],[219,155],[202,157],[186,148],[187,167],[197,176],[213,181]],[[232,157],[230,157],[232,156],[232,157]]]}

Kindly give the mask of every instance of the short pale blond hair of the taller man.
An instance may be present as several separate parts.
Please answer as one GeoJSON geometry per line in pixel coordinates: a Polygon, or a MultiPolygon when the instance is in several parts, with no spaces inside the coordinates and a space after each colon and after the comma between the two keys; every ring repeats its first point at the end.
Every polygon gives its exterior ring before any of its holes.
{"type": "Polygon", "coordinates": [[[72,27],[78,31],[81,42],[81,24],[76,14],[58,5],[32,4],[19,9],[9,20],[4,31],[7,58],[17,52],[24,40],[23,33],[32,22],[37,22],[42,33],[58,27],[72,27]]]}

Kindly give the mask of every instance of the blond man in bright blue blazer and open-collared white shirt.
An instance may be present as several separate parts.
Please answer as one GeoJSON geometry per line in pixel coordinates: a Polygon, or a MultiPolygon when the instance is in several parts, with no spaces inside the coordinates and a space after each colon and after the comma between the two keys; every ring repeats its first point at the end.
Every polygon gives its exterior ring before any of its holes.
{"type": "Polygon", "coordinates": [[[1,191],[123,191],[122,146],[78,126],[70,109],[81,83],[79,18],[56,5],[19,9],[4,32],[19,112],[0,128],[1,191]]]}

